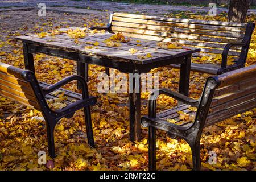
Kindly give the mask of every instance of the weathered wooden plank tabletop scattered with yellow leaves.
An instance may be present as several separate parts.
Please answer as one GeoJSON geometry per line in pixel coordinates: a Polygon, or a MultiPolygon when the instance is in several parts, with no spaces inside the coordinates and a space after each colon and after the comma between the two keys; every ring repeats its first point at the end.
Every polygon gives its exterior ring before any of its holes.
{"type": "MultiPolygon", "coordinates": [[[[102,34],[105,35],[105,34],[102,34]]],[[[101,36],[102,36],[101,35],[101,36]]],[[[108,37],[112,36],[113,34],[108,33],[108,37]]],[[[67,49],[69,51],[78,51],[81,53],[85,54],[92,54],[96,56],[102,56],[106,57],[108,59],[115,59],[115,60],[122,60],[122,61],[129,61],[133,63],[138,63],[138,64],[146,64],[149,62],[155,62],[155,61],[160,61],[160,60],[166,60],[166,59],[171,59],[173,57],[179,57],[182,55],[187,55],[188,53],[191,53],[190,50],[183,50],[183,51],[170,51],[170,50],[164,50],[164,49],[159,49],[159,48],[154,48],[148,47],[147,49],[142,50],[139,48],[140,46],[137,46],[136,49],[139,49],[140,52],[135,53],[134,55],[131,55],[129,48],[134,48],[131,46],[131,44],[128,43],[120,43],[122,46],[120,47],[106,47],[105,43],[103,41],[105,40],[104,38],[97,39],[99,40],[99,45],[97,46],[98,49],[85,49],[84,46],[86,46],[86,41],[87,40],[94,40],[94,38],[98,38],[97,36],[86,36],[85,38],[80,38],[77,39],[80,42],[84,42],[85,44],[83,46],[79,44],[75,44],[75,42],[72,42],[71,39],[69,39],[70,42],[67,42],[66,40],[68,39],[67,35],[65,39],[58,39],[61,37],[61,35],[55,35],[53,36],[46,36],[44,38],[39,38],[38,35],[36,34],[30,34],[28,36],[19,36],[17,39],[20,40],[27,40],[28,42],[35,43],[35,44],[41,44],[43,46],[50,46],[50,47],[56,47],[56,48],[62,48],[62,49],[67,49]],[[47,40],[48,39],[48,40],[47,40]],[[101,43],[101,44],[100,44],[101,43]],[[148,59],[139,59],[137,56],[138,55],[147,55],[150,53],[152,57],[149,57],[148,59]]],[[[89,44],[88,44],[89,45],[89,44]]]]}

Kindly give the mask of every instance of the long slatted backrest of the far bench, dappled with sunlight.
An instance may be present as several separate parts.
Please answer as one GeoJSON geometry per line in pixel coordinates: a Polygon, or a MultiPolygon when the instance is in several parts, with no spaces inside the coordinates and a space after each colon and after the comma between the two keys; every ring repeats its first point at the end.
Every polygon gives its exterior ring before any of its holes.
{"type": "MultiPolygon", "coordinates": [[[[199,47],[201,48],[200,55],[220,54],[226,43],[242,42],[245,38],[250,40],[254,29],[253,23],[164,18],[123,13],[113,13],[109,24],[113,32],[123,32],[126,36],[179,42],[184,46],[199,47]]],[[[236,58],[240,52],[240,47],[232,47],[229,55],[236,58]]]]}

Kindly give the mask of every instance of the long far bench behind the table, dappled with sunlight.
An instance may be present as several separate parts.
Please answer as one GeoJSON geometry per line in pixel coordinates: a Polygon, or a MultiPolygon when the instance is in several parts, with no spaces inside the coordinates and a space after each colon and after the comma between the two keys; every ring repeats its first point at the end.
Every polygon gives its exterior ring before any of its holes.
{"type": "MultiPolygon", "coordinates": [[[[177,42],[183,46],[201,48],[192,57],[221,54],[220,64],[192,63],[191,71],[220,75],[245,67],[254,23],[217,22],[195,19],[176,19],[137,14],[112,13],[107,27],[92,27],[109,32],[122,32],[131,38],[177,42]],[[227,65],[233,56],[235,64],[227,65]]],[[[139,44],[139,43],[138,43],[139,44]]],[[[180,65],[170,65],[180,68],[180,65]]],[[[106,72],[109,73],[108,68],[106,72]]]]}

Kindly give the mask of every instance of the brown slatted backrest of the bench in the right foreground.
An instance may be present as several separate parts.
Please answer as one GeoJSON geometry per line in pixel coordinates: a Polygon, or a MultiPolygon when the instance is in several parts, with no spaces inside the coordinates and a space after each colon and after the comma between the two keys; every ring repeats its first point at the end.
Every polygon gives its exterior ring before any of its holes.
{"type": "Polygon", "coordinates": [[[256,107],[256,64],[209,77],[196,118],[204,127],[256,107]]]}

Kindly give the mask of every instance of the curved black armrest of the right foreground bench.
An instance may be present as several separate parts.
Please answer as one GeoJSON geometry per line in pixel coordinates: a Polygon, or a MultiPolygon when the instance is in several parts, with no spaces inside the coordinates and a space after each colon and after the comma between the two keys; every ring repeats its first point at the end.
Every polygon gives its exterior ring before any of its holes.
{"type": "Polygon", "coordinates": [[[155,118],[155,115],[156,115],[156,99],[158,98],[158,96],[160,96],[160,94],[165,94],[167,96],[175,98],[176,100],[184,102],[184,103],[189,104],[191,106],[197,107],[199,105],[198,100],[195,100],[193,98],[189,98],[187,96],[184,96],[181,93],[177,93],[177,92],[174,92],[170,89],[165,89],[165,88],[157,89],[157,90],[154,90],[154,92],[152,92],[151,96],[150,96],[150,101],[149,101],[149,105],[148,105],[148,116],[149,117],[155,118]]]}

